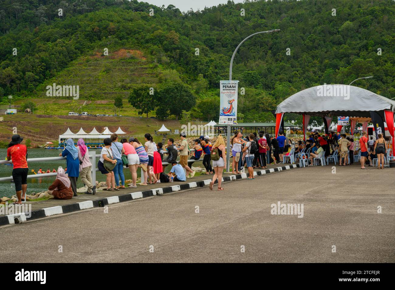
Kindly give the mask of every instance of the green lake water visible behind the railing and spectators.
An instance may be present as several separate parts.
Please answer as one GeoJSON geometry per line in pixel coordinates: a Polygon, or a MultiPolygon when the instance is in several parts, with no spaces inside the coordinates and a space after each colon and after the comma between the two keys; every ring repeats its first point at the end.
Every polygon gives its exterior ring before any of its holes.
{"type": "MultiPolygon", "coordinates": [[[[92,149],[89,149],[92,151],[92,149]]],[[[96,154],[100,154],[101,149],[96,149],[96,154]]],[[[38,158],[38,157],[59,157],[59,153],[62,152],[62,149],[28,149],[28,158],[38,158]]],[[[2,160],[6,158],[7,149],[0,148],[0,157],[2,160]]],[[[96,161],[98,161],[98,157],[96,157],[96,161]]],[[[56,160],[56,161],[41,161],[41,162],[29,162],[29,174],[34,174],[31,172],[34,169],[36,172],[40,167],[42,170],[46,171],[48,168],[53,170],[58,169],[59,166],[63,168],[66,167],[66,159],[56,160]]],[[[0,177],[9,177],[12,175],[12,166],[0,164],[0,177]]],[[[125,179],[132,179],[132,176],[128,169],[124,169],[125,179]]],[[[39,175],[36,175],[39,176],[39,175]]],[[[137,176],[140,177],[140,170],[137,170],[137,176]]],[[[105,175],[100,172],[96,172],[96,180],[97,181],[105,181],[105,175]]],[[[51,185],[55,181],[55,176],[51,177],[41,177],[41,178],[32,178],[27,180],[27,193],[31,194],[32,192],[41,192],[48,189],[49,185],[51,185]]],[[[83,187],[83,183],[80,179],[78,179],[77,187],[83,187]]],[[[15,185],[11,181],[0,181],[0,197],[7,196],[11,197],[15,195],[15,185]]]]}

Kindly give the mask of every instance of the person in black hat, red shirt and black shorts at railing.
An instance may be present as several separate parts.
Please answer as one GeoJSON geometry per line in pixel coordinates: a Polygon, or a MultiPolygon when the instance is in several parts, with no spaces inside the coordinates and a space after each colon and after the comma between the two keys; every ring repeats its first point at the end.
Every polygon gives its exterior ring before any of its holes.
{"type": "Polygon", "coordinates": [[[21,144],[22,140],[21,136],[13,135],[7,149],[7,160],[11,160],[13,164],[12,178],[18,198],[15,204],[22,204],[27,190],[27,174],[29,170],[27,165],[27,147],[21,144]]]}

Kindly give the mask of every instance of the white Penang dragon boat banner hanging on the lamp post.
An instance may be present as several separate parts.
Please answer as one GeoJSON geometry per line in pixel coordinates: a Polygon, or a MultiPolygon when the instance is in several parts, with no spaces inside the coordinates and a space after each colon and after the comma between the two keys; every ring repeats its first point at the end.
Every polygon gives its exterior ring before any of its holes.
{"type": "Polygon", "coordinates": [[[237,124],[238,80],[220,81],[220,124],[237,124]]]}

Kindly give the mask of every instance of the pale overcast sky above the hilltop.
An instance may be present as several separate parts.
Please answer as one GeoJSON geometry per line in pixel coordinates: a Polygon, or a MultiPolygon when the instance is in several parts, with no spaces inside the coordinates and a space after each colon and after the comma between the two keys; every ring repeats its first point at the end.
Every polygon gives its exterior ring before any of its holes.
{"type": "MultiPolygon", "coordinates": [[[[200,9],[203,10],[205,6],[217,6],[218,4],[225,4],[228,0],[142,0],[144,2],[148,2],[150,4],[154,4],[155,6],[162,7],[164,5],[167,7],[170,4],[173,4],[175,7],[180,9],[181,11],[188,11],[192,8],[194,11],[200,9]]],[[[243,2],[242,0],[234,0],[235,3],[243,2]]]]}

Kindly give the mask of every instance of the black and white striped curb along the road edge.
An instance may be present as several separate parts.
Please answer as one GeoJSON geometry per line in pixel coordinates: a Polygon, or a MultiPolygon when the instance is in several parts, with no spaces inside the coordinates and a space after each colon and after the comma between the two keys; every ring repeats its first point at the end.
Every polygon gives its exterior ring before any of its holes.
{"type": "MultiPolygon", "coordinates": [[[[258,170],[258,171],[254,171],[254,176],[261,176],[261,175],[270,174],[273,172],[280,172],[283,170],[288,170],[288,169],[297,168],[297,167],[299,167],[299,164],[286,165],[286,166],[282,166],[282,167],[270,168],[270,169],[265,169],[265,170],[258,170]]],[[[222,177],[222,182],[232,181],[232,180],[240,180],[240,179],[245,179],[247,177],[248,177],[248,174],[246,174],[246,173],[229,175],[229,176],[222,177]]],[[[201,180],[201,181],[196,181],[196,182],[180,183],[180,184],[171,183],[171,184],[175,184],[175,185],[171,185],[169,187],[164,187],[164,188],[150,189],[147,191],[128,193],[128,194],[124,194],[124,195],[110,196],[110,197],[105,197],[105,198],[101,198],[98,200],[87,200],[87,201],[77,202],[77,203],[73,203],[73,204],[66,204],[64,206],[53,206],[50,208],[43,208],[41,210],[34,210],[29,214],[30,217],[26,216],[25,213],[14,213],[14,214],[5,215],[5,216],[0,217],[0,226],[11,225],[11,224],[15,224],[15,223],[22,223],[22,222],[30,221],[30,220],[34,220],[34,219],[41,219],[43,217],[50,217],[52,215],[59,215],[62,213],[70,213],[73,211],[86,210],[88,208],[104,207],[109,204],[116,204],[119,202],[125,202],[125,201],[130,201],[130,200],[135,200],[135,199],[145,198],[145,197],[155,196],[155,195],[164,195],[166,193],[173,193],[173,192],[186,190],[186,189],[192,189],[192,188],[196,188],[196,187],[204,187],[204,186],[209,185],[210,182],[211,182],[211,179],[201,180]]],[[[217,181],[216,181],[216,183],[217,183],[217,181]]]]}

